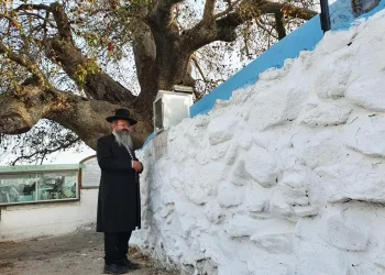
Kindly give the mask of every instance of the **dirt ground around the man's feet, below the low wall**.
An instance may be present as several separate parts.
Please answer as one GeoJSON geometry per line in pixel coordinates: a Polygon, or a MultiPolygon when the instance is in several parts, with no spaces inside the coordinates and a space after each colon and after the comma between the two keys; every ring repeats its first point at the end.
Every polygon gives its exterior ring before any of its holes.
{"type": "MultiPolygon", "coordinates": [[[[177,275],[160,264],[130,250],[130,258],[141,268],[132,275],[177,275]]],[[[24,242],[0,242],[1,275],[95,275],[102,274],[103,239],[94,229],[70,235],[44,238],[24,242]]]]}

